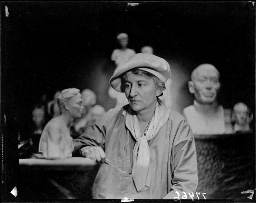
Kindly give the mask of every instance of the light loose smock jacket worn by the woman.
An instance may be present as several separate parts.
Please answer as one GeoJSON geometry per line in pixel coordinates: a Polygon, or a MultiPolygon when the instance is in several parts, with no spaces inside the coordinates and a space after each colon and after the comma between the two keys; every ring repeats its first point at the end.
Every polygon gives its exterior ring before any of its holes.
{"type": "MultiPolygon", "coordinates": [[[[166,108],[165,106],[161,106],[166,108]]],[[[81,156],[85,146],[100,146],[112,164],[101,164],[92,187],[93,199],[174,199],[183,192],[195,193],[197,159],[195,141],[186,119],[171,110],[169,119],[150,141],[151,183],[137,192],[132,179],[132,150],[135,141],[125,125],[129,105],[110,109],[78,139],[73,141],[73,156],[81,156]]]]}

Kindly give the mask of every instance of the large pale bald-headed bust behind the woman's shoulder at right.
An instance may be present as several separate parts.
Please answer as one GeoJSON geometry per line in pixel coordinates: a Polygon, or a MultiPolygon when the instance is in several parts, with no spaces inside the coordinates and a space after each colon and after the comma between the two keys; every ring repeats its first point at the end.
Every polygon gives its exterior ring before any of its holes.
{"type": "Polygon", "coordinates": [[[183,109],[183,114],[194,134],[224,134],[224,110],[217,104],[220,89],[219,71],[214,65],[201,64],[191,73],[189,92],[194,104],[183,109]]]}

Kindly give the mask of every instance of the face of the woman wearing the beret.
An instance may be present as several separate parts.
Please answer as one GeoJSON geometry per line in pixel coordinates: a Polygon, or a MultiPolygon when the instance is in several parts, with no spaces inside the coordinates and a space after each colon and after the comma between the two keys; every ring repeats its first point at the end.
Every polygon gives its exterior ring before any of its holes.
{"type": "Polygon", "coordinates": [[[160,90],[156,89],[152,78],[129,72],[124,82],[125,96],[132,110],[136,113],[143,113],[155,108],[156,97],[159,96],[160,90]]]}

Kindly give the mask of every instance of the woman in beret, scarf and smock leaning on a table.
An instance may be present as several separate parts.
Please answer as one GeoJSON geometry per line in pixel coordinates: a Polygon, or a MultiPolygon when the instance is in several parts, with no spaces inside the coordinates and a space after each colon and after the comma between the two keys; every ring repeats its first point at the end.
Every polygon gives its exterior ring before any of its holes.
{"type": "Polygon", "coordinates": [[[174,199],[195,192],[196,149],[185,118],[158,99],[170,66],[151,54],[135,54],[117,67],[111,86],[129,104],[110,109],[74,141],[73,156],[102,163],[92,187],[95,199],[174,199]]]}

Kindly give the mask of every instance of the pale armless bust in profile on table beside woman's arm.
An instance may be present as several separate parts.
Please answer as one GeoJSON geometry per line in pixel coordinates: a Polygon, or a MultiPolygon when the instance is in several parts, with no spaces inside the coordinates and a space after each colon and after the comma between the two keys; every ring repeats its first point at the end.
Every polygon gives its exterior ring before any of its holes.
{"type": "Polygon", "coordinates": [[[73,144],[68,126],[83,112],[82,96],[76,88],[64,89],[58,97],[61,115],[45,126],[39,141],[39,152],[45,157],[67,158],[72,156],[73,144]]]}

